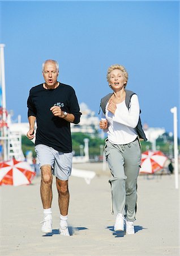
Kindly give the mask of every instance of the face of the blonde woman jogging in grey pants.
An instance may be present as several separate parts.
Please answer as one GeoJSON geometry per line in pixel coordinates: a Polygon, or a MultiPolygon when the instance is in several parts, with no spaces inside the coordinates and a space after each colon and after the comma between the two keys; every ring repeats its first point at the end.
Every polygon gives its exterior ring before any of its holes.
{"type": "Polygon", "coordinates": [[[112,86],[112,89],[115,91],[121,90],[126,84],[126,79],[123,76],[123,73],[119,69],[114,69],[110,72],[109,85],[112,86]]]}

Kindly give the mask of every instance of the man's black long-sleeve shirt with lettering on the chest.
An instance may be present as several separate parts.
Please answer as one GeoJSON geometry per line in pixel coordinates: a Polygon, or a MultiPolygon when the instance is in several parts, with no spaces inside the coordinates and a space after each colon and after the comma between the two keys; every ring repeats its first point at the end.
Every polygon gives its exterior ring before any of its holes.
{"type": "Polygon", "coordinates": [[[70,85],[59,83],[55,89],[44,89],[43,84],[31,88],[27,101],[28,117],[36,117],[37,144],[45,144],[57,151],[72,151],[70,122],[55,117],[50,111],[54,105],[60,106],[67,113],[73,114],[74,123],[80,121],[80,109],[74,89],[70,85]]]}

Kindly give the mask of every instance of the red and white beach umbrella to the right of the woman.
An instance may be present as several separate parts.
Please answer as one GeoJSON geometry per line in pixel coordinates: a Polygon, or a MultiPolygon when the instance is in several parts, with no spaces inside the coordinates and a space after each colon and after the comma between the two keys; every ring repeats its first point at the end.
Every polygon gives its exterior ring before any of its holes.
{"type": "Polygon", "coordinates": [[[160,171],[168,158],[161,151],[145,151],[142,153],[140,173],[154,174],[160,171]]]}

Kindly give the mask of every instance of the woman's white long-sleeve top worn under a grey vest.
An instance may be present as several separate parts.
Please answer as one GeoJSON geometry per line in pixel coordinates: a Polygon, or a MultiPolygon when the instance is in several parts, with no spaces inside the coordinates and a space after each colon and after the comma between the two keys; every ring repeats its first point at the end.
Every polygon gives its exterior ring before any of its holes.
{"type": "Polygon", "coordinates": [[[108,140],[113,144],[127,144],[135,140],[137,133],[135,127],[139,121],[139,100],[136,94],[131,97],[130,109],[127,109],[125,101],[116,104],[115,113],[111,113],[106,105],[105,116],[108,120],[108,140]]]}

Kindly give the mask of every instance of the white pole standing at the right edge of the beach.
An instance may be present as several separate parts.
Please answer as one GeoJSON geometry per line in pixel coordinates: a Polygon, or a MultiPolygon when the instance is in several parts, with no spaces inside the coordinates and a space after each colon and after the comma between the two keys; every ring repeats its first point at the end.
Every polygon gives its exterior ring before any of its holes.
{"type": "Polygon", "coordinates": [[[173,125],[174,125],[174,176],[175,176],[175,188],[178,189],[178,118],[177,107],[170,109],[173,113],[173,125]]]}

